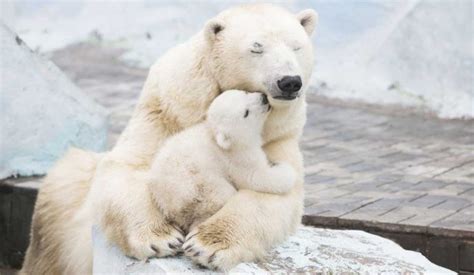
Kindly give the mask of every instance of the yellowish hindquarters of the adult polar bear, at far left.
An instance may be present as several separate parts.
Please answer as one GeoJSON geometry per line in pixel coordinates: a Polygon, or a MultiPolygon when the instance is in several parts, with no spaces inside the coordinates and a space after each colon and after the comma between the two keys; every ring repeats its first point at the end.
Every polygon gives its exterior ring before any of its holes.
{"type": "Polygon", "coordinates": [[[20,274],[92,271],[91,241],[84,234],[89,231],[78,233],[82,226],[72,221],[86,200],[101,158],[102,154],[70,149],[48,172],[36,200],[30,244],[20,274]]]}

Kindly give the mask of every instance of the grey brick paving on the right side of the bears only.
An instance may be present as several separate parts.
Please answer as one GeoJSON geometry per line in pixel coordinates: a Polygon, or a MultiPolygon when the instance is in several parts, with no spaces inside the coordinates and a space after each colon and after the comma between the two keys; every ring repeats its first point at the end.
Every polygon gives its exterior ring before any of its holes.
{"type": "Polygon", "coordinates": [[[474,124],[311,102],[306,214],[474,231],[474,124]]]}

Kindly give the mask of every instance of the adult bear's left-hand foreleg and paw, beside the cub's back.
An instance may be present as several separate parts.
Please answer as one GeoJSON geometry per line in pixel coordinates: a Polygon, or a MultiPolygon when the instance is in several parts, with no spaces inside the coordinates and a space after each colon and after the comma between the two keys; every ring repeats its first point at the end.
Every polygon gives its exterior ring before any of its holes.
{"type": "Polygon", "coordinates": [[[105,159],[88,197],[94,223],[127,256],[139,260],[175,255],[184,241],[181,229],[155,207],[148,180],[146,170],[105,159]]]}

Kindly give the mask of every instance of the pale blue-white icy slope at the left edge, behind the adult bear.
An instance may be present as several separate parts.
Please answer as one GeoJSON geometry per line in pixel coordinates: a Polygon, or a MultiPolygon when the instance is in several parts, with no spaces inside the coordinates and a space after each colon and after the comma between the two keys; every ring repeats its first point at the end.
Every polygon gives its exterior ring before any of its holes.
{"type": "Polygon", "coordinates": [[[70,146],[105,148],[105,110],[0,23],[0,178],[44,174],[70,146]]]}

